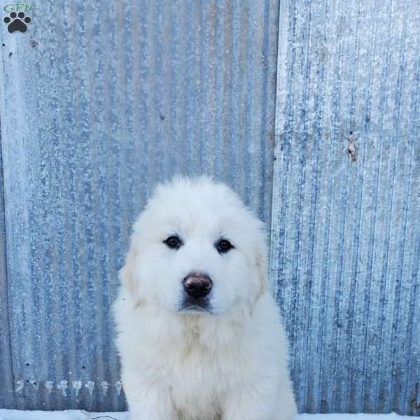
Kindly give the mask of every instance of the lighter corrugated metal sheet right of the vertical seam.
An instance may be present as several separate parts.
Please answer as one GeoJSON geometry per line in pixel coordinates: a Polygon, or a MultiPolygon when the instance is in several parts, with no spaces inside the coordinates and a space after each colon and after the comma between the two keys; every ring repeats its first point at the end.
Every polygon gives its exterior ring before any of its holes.
{"type": "Polygon", "coordinates": [[[420,414],[420,7],[281,1],[271,274],[300,411],[420,414]]]}

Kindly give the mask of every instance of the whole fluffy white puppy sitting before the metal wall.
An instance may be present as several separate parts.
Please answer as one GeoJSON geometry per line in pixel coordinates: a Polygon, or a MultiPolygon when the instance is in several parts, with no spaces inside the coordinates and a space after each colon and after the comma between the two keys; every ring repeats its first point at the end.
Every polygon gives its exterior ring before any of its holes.
{"type": "Polygon", "coordinates": [[[207,178],[158,186],[114,310],[131,420],[290,420],[286,339],[263,225],[207,178]]]}

